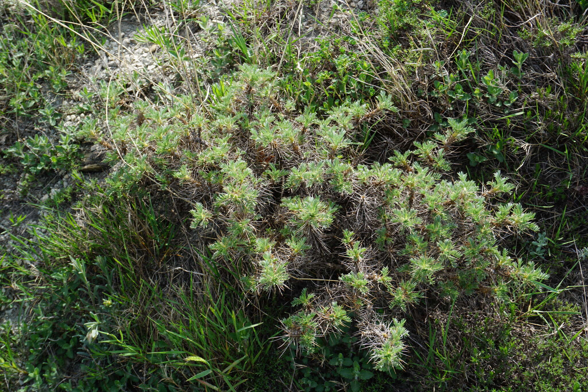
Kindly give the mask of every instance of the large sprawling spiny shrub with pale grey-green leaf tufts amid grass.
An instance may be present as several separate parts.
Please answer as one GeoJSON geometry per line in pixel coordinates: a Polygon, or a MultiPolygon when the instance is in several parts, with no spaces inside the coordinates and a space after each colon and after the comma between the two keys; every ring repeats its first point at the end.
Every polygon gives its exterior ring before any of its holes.
{"type": "Polygon", "coordinates": [[[110,112],[112,132],[83,131],[119,161],[111,192],[149,182],[192,206],[192,228],[213,259],[245,265],[244,290],[299,290],[281,321],[306,354],[355,323],[379,370],[402,364],[409,308],[458,296],[509,301],[547,276],[513,260],[503,240],[536,231],[533,214],[497,199],[513,190],[497,172],[485,185],[446,157],[474,129],[448,119],[415,149],[368,162],[368,135],[396,116],[385,93],[319,115],[280,96],[276,74],[240,67],[202,105],[135,103],[110,112]],[[109,135],[109,136],[102,136],[109,135]]]}

